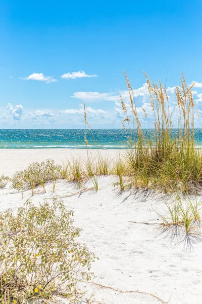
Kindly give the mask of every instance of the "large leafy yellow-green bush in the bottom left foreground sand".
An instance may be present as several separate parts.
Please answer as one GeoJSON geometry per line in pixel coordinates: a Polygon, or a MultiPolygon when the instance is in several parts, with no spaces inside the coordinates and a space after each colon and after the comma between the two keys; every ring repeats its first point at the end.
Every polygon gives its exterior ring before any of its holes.
{"type": "Polygon", "coordinates": [[[0,213],[2,303],[71,296],[80,280],[90,279],[94,255],[76,242],[73,223],[73,212],[56,199],[0,213]]]}

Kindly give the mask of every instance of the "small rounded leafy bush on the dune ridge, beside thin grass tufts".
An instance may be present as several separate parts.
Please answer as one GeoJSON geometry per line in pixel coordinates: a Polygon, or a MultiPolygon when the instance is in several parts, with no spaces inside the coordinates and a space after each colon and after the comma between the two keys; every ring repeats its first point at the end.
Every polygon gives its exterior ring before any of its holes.
{"type": "Polygon", "coordinates": [[[45,192],[45,182],[49,180],[56,181],[62,178],[62,166],[56,165],[53,160],[46,160],[46,162],[35,162],[30,164],[26,170],[22,170],[13,176],[13,188],[18,190],[33,190],[36,186],[41,185],[45,192]]]}

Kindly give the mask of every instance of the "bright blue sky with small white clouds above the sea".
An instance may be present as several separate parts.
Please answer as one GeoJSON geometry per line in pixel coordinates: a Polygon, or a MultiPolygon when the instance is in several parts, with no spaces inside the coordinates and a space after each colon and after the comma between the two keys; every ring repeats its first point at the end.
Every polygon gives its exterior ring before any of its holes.
{"type": "Polygon", "coordinates": [[[122,70],[139,108],[142,70],[170,88],[183,71],[202,110],[201,13],[201,0],[2,0],[0,128],[82,128],[83,101],[91,127],[119,128],[122,70]]]}

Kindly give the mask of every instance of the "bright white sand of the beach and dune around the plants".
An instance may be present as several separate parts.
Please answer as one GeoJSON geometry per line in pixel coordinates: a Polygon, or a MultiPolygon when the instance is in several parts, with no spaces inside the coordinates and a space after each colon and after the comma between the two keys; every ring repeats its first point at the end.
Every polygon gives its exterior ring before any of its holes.
{"type": "MultiPolygon", "coordinates": [[[[118,150],[99,152],[116,157],[118,150]]],[[[85,150],[76,149],[2,149],[1,174],[12,177],[34,161],[49,158],[62,164],[70,157],[83,158],[85,154],[85,150]]],[[[23,198],[8,184],[0,190],[0,210],[17,210],[27,199],[38,204],[44,198],[63,197],[81,228],[79,241],[99,258],[92,264],[93,282],[117,290],[83,283],[78,288],[86,291],[84,299],[90,299],[89,303],[201,304],[202,242],[186,239],[183,232],[177,238],[171,230],[163,233],[160,225],[144,224],[160,222],[155,210],[166,212],[168,196],[135,189],[120,194],[119,187],[113,184],[116,182],[116,176],[102,176],[98,178],[97,193],[82,193],[76,183],[60,180],[55,193],[48,183],[46,193],[39,187],[34,196],[26,191],[23,198]]],[[[90,181],[83,187],[90,188],[90,181]]]]}

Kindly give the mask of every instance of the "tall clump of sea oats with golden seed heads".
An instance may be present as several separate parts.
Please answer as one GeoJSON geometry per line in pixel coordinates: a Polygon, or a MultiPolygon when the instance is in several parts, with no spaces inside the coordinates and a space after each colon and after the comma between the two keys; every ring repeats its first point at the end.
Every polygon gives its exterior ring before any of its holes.
{"type": "MultiPolygon", "coordinates": [[[[188,87],[182,74],[181,86],[175,89],[176,104],[171,106],[167,90],[161,82],[154,84],[145,76],[155,127],[150,129],[149,136],[143,136],[139,110],[126,74],[130,107],[120,96],[122,110],[126,114],[122,125],[129,142],[125,159],[132,169],[134,184],[142,187],[161,186],[166,191],[180,188],[183,192],[192,186],[200,187],[202,158],[200,150],[195,148],[194,117],[198,112],[194,108],[193,85],[188,87]]],[[[148,119],[145,109],[142,110],[145,119],[148,119]]]]}

